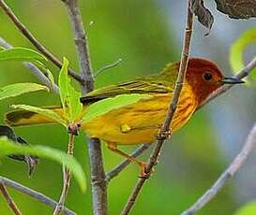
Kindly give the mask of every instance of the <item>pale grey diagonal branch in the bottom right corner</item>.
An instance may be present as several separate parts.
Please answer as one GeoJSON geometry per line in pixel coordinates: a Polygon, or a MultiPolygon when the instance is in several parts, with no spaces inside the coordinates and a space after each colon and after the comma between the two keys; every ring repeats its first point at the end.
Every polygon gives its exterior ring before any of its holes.
{"type": "Polygon", "coordinates": [[[216,194],[223,188],[228,179],[233,178],[234,174],[241,168],[241,166],[248,159],[249,153],[254,149],[256,145],[256,124],[252,127],[248,134],[247,141],[240,150],[240,152],[233,159],[231,165],[221,174],[218,180],[213,184],[213,186],[203,193],[203,195],[196,201],[196,203],[184,211],[183,215],[195,214],[198,210],[203,208],[209,201],[211,201],[216,194]]]}

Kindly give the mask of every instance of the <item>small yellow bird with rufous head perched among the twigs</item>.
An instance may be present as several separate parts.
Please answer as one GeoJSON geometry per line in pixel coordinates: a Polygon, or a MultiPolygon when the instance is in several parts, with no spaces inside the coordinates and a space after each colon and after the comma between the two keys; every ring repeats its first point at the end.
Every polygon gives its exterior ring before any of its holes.
{"type": "MultiPolygon", "coordinates": [[[[87,93],[80,99],[85,111],[98,101],[120,94],[139,93],[150,96],[134,104],[115,108],[91,122],[82,122],[82,129],[90,137],[97,137],[106,142],[110,150],[139,165],[143,175],[146,164],[119,150],[117,146],[153,143],[156,140],[173,98],[179,66],[180,62],[170,63],[158,74],[105,86],[87,93]]],[[[244,81],[224,77],[215,63],[203,58],[189,58],[185,82],[170,125],[172,133],[186,124],[203,101],[223,84],[239,83],[244,81]]],[[[52,109],[60,115],[63,114],[61,107],[52,109]]],[[[10,126],[20,126],[52,123],[53,120],[26,110],[13,110],[6,114],[6,122],[10,126]]]]}

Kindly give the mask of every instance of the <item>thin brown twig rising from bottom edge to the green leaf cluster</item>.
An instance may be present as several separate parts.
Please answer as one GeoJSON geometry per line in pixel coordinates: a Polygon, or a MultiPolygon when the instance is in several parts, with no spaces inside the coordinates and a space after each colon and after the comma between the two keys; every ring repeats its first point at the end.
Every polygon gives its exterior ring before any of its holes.
{"type": "MultiPolygon", "coordinates": [[[[74,135],[70,134],[69,135],[69,140],[68,140],[68,155],[73,156],[74,152],[74,135]]],[[[68,196],[68,190],[69,190],[69,185],[70,185],[70,179],[71,179],[71,172],[68,169],[67,166],[63,166],[63,188],[62,188],[62,193],[60,195],[59,202],[54,209],[53,215],[58,215],[62,212],[64,208],[64,204],[66,201],[66,198],[68,196]]]]}

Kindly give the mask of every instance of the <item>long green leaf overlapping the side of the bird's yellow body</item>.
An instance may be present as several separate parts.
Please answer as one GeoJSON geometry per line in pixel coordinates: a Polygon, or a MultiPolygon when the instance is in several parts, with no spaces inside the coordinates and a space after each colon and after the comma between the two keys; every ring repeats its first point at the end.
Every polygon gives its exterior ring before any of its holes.
{"type": "Polygon", "coordinates": [[[113,98],[100,100],[86,108],[83,116],[83,122],[90,122],[95,118],[112,111],[113,109],[122,108],[124,106],[136,103],[141,99],[149,99],[151,97],[152,96],[148,94],[131,93],[120,94],[114,96],[113,98]]]}

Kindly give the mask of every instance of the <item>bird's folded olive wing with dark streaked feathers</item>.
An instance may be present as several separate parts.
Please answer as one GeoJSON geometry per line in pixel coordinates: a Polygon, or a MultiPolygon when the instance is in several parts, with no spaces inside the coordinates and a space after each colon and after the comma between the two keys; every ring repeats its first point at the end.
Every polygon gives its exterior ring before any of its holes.
{"type": "Polygon", "coordinates": [[[158,80],[157,77],[148,77],[146,79],[136,79],[100,88],[82,97],[81,102],[83,104],[91,104],[101,99],[113,97],[119,94],[170,92],[173,92],[173,86],[170,81],[158,80]]]}

